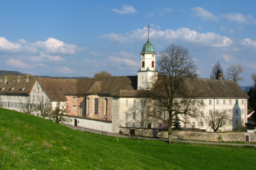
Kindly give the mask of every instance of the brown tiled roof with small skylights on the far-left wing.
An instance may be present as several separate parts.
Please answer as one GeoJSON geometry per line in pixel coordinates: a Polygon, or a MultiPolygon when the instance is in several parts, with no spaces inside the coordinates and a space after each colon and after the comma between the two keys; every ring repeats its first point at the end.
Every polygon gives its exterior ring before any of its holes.
{"type": "Polygon", "coordinates": [[[36,79],[30,79],[26,83],[26,79],[21,79],[17,84],[17,79],[7,80],[4,85],[4,81],[0,82],[0,93],[13,93],[13,94],[29,94],[36,83],[36,79]]]}

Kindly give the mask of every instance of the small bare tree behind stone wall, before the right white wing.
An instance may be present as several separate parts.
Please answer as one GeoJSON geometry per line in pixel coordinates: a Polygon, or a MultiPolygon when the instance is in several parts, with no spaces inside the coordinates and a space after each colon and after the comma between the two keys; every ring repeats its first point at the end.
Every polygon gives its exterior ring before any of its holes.
{"type": "Polygon", "coordinates": [[[226,114],[226,110],[214,110],[213,113],[205,116],[204,119],[208,122],[209,127],[213,129],[214,132],[217,132],[220,127],[228,125],[231,116],[226,114]]]}

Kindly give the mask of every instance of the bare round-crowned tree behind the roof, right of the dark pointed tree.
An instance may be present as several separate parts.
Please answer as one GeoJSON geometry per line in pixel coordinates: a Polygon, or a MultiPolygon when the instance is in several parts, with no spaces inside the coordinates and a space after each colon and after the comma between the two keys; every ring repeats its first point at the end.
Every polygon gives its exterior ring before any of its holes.
{"type": "Polygon", "coordinates": [[[234,80],[235,82],[243,81],[243,77],[240,74],[243,72],[243,66],[241,64],[230,65],[227,69],[226,76],[229,80],[234,80]]]}

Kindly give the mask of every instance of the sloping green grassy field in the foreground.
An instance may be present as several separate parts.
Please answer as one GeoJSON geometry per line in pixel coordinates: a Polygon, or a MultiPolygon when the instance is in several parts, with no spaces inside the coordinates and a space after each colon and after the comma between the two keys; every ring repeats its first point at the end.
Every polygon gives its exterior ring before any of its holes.
{"type": "Polygon", "coordinates": [[[78,132],[0,108],[0,170],[256,169],[256,148],[174,143],[78,132]]]}

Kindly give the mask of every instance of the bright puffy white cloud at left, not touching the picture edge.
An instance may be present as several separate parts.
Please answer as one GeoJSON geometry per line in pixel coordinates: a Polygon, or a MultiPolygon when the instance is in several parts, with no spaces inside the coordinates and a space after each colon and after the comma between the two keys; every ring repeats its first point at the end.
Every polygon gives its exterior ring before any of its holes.
{"type": "Polygon", "coordinates": [[[75,51],[81,51],[82,48],[73,44],[65,44],[63,41],[56,38],[48,38],[45,42],[37,41],[35,46],[44,48],[47,53],[75,54],[75,51]]]}

